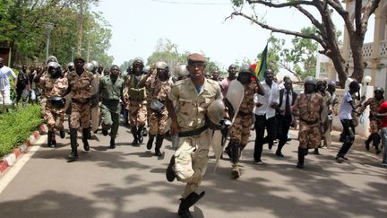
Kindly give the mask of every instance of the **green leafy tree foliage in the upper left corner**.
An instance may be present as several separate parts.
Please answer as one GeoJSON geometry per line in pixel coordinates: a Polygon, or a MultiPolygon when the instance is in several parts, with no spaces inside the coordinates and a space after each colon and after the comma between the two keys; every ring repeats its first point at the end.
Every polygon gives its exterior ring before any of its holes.
{"type": "MultiPolygon", "coordinates": [[[[110,48],[110,25],[100,13],[90,12],[89,5],[98,1],[83,0],[82,57],[86,58],[90,41],[90,60],[95,59],[110,66],[113,57],[107,56],[110,48]]],[[[47,22],[54,23],[50,34],[50,55],[55,55],[62,64],[71,61],[72,48],[78,43],[80,1],[59,0],[3,0],[0,4],[0,43],[12,49],[12,63],[26,60],[45,61],[47,22]]]]}

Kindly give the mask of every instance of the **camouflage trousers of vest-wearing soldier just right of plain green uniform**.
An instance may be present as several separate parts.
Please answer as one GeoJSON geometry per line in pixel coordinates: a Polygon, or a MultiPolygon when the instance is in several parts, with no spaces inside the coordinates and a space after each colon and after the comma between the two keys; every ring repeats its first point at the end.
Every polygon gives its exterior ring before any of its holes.
{"type": "Polygon", "coordinates": [[[147,120],[147,103],[144,101],[133,101],[129,103],[129,122],[132,127],[145,126],[147,120]]]}

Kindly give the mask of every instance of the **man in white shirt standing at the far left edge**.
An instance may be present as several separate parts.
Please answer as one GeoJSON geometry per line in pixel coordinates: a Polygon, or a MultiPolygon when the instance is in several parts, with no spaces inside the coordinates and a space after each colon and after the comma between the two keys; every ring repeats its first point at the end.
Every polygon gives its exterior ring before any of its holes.
{"type": "Polygon", "coordinates": [[[13,80],[16,79],[16,75],[13,73],[13,70],[4,65],[4,59],[0,57],[0,106],[10,106],[11,101],[11,85],[9,77],[13,77],[13,80]]]}

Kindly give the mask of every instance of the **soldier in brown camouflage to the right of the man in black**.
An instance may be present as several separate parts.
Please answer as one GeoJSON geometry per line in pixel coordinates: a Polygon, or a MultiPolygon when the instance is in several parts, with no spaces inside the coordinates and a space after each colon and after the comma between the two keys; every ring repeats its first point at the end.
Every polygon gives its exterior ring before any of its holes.
{"type": "Polygon", "coordinates": [[[316,81],[314,77],[305,78],[305,90],[300,94],[293,105],[293,114],[299,117],[298,132],[298,162],[297,168],[304,168],[307,150],[317,148],[322,140],[323,97],[315,92],[316,81]]]}

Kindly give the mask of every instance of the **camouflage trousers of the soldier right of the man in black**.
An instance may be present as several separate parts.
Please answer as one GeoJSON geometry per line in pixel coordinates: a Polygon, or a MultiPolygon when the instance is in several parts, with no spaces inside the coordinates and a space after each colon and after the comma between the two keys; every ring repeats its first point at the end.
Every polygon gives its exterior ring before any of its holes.
{"type": "Polygon", "coordinates": [[[307,125],[301,121],[299,124],[298,141],[300,148],[317,148],[322,141],[321,125],[307,125]]]}

